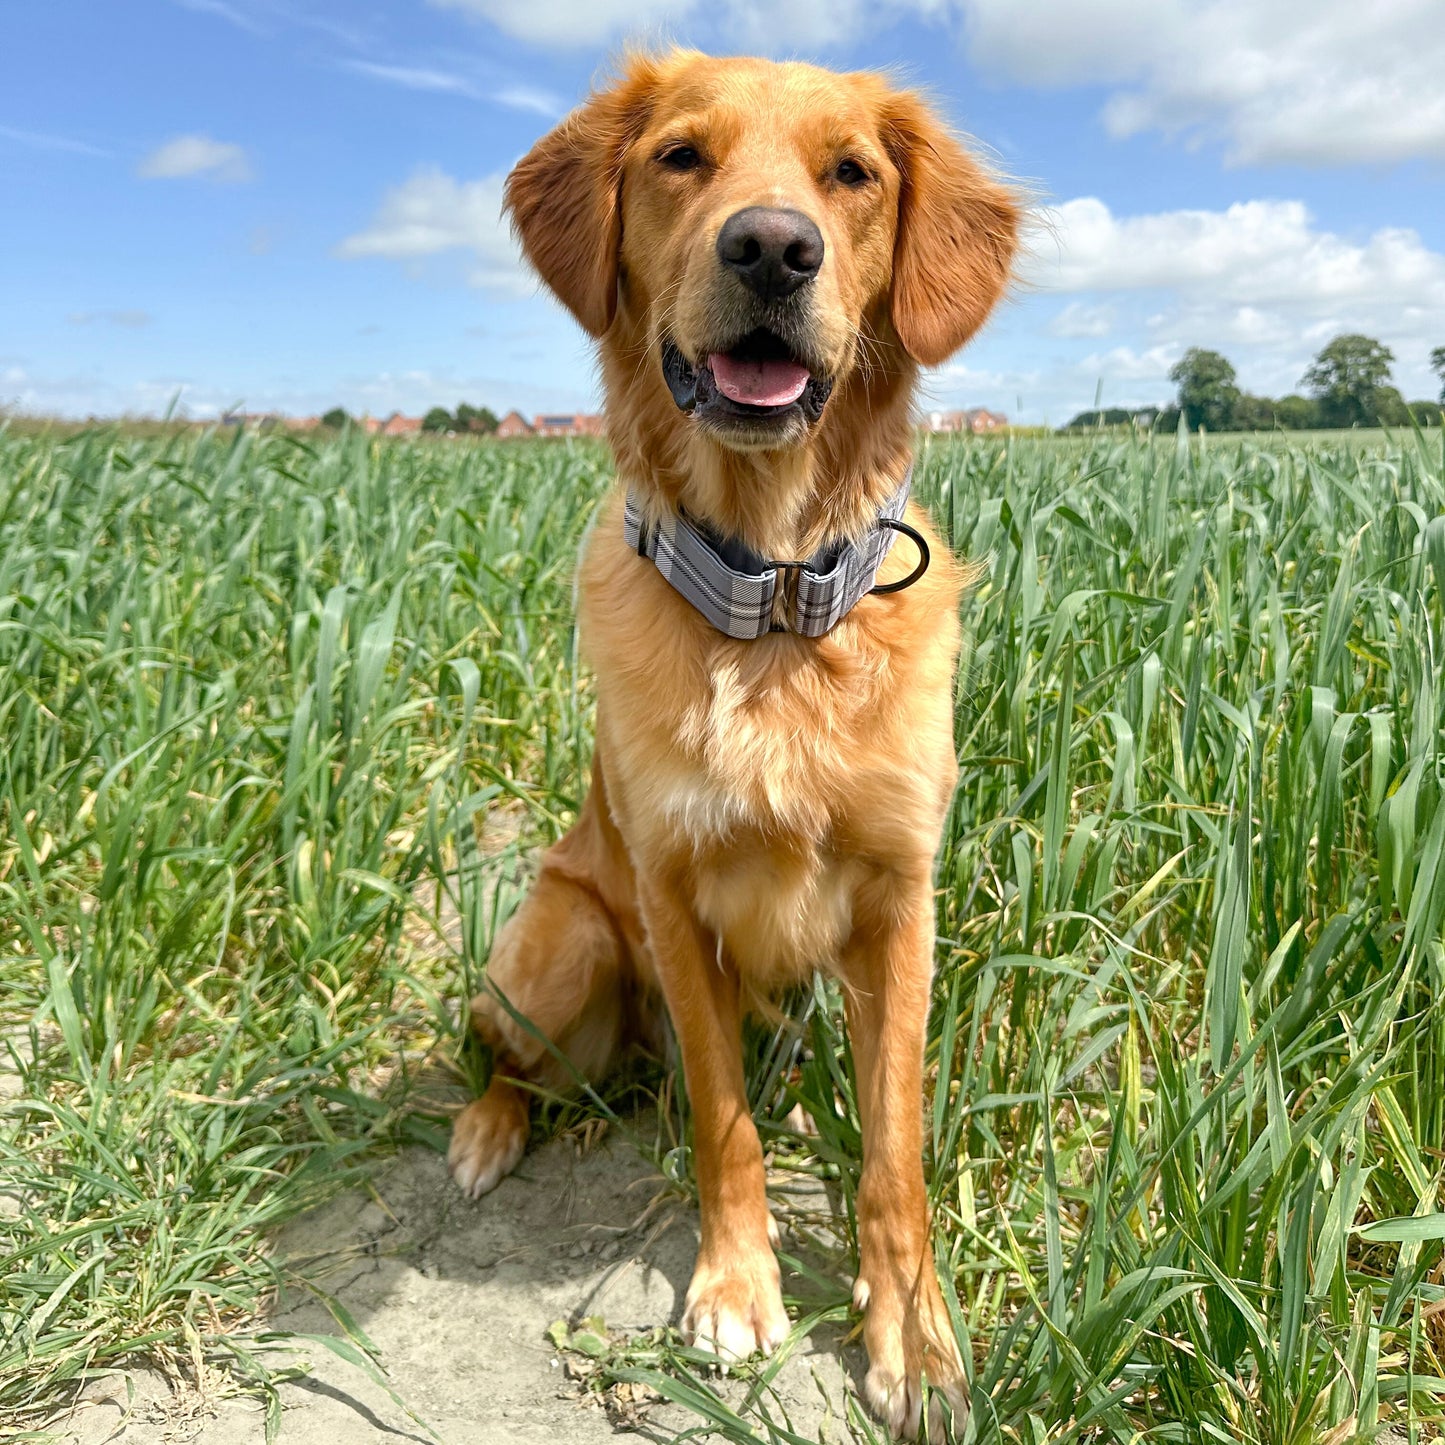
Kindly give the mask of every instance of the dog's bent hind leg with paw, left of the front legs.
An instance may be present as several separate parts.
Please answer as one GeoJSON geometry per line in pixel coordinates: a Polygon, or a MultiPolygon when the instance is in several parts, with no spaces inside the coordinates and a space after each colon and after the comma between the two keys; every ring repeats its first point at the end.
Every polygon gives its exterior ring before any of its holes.
{"type": "Polygon", "coordinates": [[[551,848],[487,962],[471,1026],[493,1051],[494,1078],[452,1124],[448,1163],[460,1188],[493,1189],[526,1150],[529,1095],[510,1079],[571,1092],[601,1082],[624,1042],[633,993],[631,870],[594,788],[577,827],[551,848]]]}

